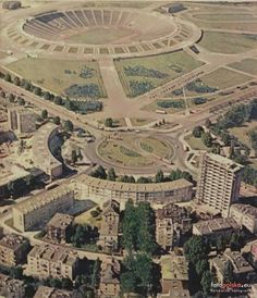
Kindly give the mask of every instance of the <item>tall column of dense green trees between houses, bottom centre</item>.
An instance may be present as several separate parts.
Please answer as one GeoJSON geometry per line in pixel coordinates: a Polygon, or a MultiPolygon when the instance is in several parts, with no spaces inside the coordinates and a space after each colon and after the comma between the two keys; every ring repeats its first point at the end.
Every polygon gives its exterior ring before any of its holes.
{"type": "Polygon", "coordinates": [[[124,293],[138,293],[147,297],[158,290],[155,276],[160,280],[160,270],[155,266],[151,256],[155,244],[155,213],[149,203],[134,206],[128,200],[125,204],[122,221],[122,246],[127,257],[122,263],[121,288],[124,293]]]}

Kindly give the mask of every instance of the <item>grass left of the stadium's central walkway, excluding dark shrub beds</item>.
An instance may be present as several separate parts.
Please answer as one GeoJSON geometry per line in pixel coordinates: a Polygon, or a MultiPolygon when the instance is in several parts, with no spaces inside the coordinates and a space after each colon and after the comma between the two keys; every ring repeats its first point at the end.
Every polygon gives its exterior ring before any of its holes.
{"type": "Polygon", "coordinates": [[[101,97],[107,96],[97,62],[25,58],[9,64],[8,69],[59,95],[64,95],[64,89],[73,84],[97,84],[101,97]],[[87,78],[79,76],[85,65],[91,69],[91,76],[87,78]]]}

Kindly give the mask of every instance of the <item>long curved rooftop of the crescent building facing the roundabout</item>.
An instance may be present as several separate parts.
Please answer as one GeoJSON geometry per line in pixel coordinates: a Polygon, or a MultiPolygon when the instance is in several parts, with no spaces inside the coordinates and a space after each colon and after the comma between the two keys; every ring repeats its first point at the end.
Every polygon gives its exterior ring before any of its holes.
{"type": "Polygon", "coordinates": [[[86,174],[81,174],[75,179],[74,183],[86,184],[91,187],[107,188],[117,191],[137,191],[137,193],[158,193],[158,191],[169,191],[175,190],[178,188],[186,188],[193,186],[192,183],[182,178],[173,182],[166,183],[149,183],[149,184],[137,184],[137,183],[122,183],[122,182],[111,182],[95,178],[86,174]]]}

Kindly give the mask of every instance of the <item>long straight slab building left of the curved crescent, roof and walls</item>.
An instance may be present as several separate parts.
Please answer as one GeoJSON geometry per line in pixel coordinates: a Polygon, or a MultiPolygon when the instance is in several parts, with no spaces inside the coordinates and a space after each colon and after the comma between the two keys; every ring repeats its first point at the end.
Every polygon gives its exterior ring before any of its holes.
{"type": "Polygon", "coordinates": [[[68,185],[39,193],[16,203],[13,211],[13,225],[21,232],[39,229],[57,212],[69,212],[74,206],[74,191],[68,185]]]}

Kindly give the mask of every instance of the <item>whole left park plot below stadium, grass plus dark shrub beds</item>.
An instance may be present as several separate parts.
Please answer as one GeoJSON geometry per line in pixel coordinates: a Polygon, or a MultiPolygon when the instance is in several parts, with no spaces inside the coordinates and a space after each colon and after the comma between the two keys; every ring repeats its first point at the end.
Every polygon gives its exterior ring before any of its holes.
{"type": "Polygon", "coordinates": [[[23,78],[71,98],[102,98],[106,90],[97,62],[25,58],[8,65],[23,78]]]}

